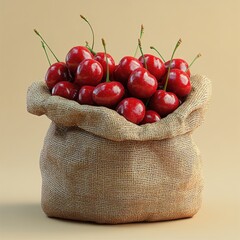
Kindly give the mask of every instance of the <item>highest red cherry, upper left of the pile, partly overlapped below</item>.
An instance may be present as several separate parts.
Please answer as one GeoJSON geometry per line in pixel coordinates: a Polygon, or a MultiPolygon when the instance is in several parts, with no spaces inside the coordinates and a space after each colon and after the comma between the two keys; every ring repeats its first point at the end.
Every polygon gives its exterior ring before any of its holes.
{"type": "Polygon", "coordinates": [[[76,46],[69,50],[66,56],[66,64],[72,76],[75,76],[78,65],[85,59],[92,59],[92,53],[83,46],[76,46]]]}

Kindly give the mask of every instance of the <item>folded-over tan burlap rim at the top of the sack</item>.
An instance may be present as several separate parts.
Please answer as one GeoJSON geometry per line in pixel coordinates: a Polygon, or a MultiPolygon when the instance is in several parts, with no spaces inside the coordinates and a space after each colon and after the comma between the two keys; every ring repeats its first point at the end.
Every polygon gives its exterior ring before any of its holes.
{"type": "Polygon", "coordinates": [[[81,105],[51,96],[44,81],[34,82],[27,93],[27,110],[46,115],[57,125],[78,126],[94,135],[113,141],[162,140],[193,131],[204,118],[211,96],[211,81],[202,75],[191,77],[192,91],[186,101],[159,122],[136,125],[116,111],[100,106],[81,105]]]}

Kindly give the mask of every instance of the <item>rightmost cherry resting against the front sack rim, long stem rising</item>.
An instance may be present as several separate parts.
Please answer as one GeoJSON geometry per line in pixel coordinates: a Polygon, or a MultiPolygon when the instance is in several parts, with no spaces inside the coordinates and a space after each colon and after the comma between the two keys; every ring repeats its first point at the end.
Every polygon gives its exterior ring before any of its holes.
{"type": "Polygon", "coordinates": [[[174,93],[157,90],[149,101],[149,108],[163,118],[177,109],[179,104],[179,100],[174,93]]]}

